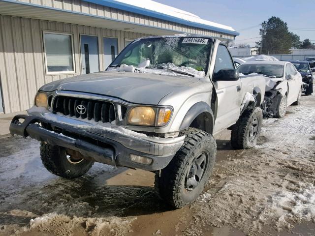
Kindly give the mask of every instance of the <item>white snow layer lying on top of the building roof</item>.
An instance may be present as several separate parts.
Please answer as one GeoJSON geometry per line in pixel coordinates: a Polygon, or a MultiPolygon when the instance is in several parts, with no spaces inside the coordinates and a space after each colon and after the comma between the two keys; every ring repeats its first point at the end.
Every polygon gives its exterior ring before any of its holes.
{"type": "Polygon", "coordinates": [[[166,14],[166,15],[173,16],[173,17],[183,19],[186,21],[235,31],[232,27],[221,25],[221,24],[214,23],[207,20],[203,20],[199,16],[194,15],[190,12],[183,11],[181,9],[171,7],[171,6],[156,2],[156,1],[152,1],[152,0],[115,0],[115,1],[123,2],[128,5],[133,5],[136,7],[148,9],[148,10],[155,11],[158,13],[166,14]]]}

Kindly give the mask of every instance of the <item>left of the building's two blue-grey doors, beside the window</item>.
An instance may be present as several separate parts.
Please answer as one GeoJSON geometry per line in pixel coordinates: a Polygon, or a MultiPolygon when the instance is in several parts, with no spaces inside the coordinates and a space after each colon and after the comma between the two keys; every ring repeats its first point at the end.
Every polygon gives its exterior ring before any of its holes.
{"type": "Polygon", "coordinates": [[[81,35],[82,74],[99,71],[98,37],[81,35]]]}

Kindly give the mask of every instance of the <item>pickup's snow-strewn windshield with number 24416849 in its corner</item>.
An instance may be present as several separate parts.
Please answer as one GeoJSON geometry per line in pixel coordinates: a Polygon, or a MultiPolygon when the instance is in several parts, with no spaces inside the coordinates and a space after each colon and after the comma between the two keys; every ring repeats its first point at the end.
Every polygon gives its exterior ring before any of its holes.
{"type": "Polygon", "coordinates": [[[130,43],[109,67],[147,73],[165,70],[200,77],[207,73],[211,45],[211,39],[197,37],[140,39],[130,43]]]}

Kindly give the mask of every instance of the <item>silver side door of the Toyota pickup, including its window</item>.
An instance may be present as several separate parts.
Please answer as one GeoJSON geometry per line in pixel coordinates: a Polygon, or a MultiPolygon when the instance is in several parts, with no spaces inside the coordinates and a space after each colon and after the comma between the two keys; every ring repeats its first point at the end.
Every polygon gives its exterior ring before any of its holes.
{"type": "MultiPolygon", "coordinates": [[[[221,69],[234,69],[234,63],[224,45],[219,45],[214,74],[221,69]]],[[[240,79],[237,81],[215,81],[214,87],[217,91],[218,110],[214,133],[221,131],[234,124],[240,116],[242,97],[242,85],[240,79]]]]}

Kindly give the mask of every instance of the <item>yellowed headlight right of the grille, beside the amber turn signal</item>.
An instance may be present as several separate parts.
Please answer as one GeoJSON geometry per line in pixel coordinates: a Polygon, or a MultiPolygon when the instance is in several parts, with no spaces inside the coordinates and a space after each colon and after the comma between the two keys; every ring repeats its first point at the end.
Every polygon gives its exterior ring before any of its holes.
{"type": "Polygon", "coordinates": [[[134,107],[130,110],[127,124],[154,125],[156,112],[152,107],[134,107]]]}

